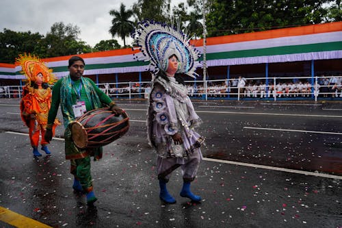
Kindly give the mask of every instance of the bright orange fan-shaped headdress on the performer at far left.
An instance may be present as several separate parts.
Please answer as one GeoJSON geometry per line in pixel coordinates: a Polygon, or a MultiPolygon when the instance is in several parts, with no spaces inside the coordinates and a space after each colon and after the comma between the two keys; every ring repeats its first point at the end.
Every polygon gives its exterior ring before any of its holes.
{"type": "Polygon", "coordinates": [[[38,73],[42,73],[44,83],[53,84],[57,81],[55,75],[52,73],[52,69],[48,68],[44,62],[35,55],[27,55],[26,53],[24,55],[19,55],[19,57],[16,58],[16,66],[21,66],[23,70],[21,73],[25,74],[29,84],[31,81],[36,81],[38,73]]]}

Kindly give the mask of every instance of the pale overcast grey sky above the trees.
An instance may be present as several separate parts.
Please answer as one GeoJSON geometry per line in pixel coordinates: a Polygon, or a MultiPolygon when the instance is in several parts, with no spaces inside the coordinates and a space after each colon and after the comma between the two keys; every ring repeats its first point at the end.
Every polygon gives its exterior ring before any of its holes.
{"type": "MultiPolygon", "coordinates": [[[[79,38],[94,47],[101,40],[111,39],[109,10],[119,10],[120,3],[126,9],[137,0],[1,0],[0,31],[31,31],[46,35],[53,23],[63,22],[77,25],[81,29],[79,38]]],[[[181,0],[172,0],[172,4],[181,0]]],[[[114,37],[120,45],[121,38],[114,37]]]]}

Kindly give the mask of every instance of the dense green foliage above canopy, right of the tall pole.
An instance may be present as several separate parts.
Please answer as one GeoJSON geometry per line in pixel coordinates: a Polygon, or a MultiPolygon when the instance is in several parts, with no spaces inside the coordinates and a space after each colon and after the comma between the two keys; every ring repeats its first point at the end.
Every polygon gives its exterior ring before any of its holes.
{"type": "Polygon", "coordinates": [[[326,0],[209,0],[208,36],[324,23],[326,0]]]}

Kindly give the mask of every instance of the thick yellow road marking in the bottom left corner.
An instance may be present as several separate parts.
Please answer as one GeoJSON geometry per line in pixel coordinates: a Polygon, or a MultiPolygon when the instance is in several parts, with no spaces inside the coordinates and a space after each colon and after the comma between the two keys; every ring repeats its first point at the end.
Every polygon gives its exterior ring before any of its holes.
{"type": "Polygon", "coordinates": [[[4,223],[8,223],[18,228],[26,228],[26,227],[36,227],[36,228],[52,228],[44,223],[40,223],[37,220],[32,218],[27,218],[18,214],[16,212],[12,212],[4,207],[0,207],[0,220],[4,223]]]}

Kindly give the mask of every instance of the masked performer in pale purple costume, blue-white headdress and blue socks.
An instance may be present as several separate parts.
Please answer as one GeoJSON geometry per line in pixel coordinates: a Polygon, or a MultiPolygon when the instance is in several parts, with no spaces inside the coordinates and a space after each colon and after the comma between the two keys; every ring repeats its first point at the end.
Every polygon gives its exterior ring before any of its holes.
{"type": "Polygon", "coordinates": [[[153,80],[148,101],[148,142],[157,151],[157,174],[161,200],[176,203],[168,192],[172,171],[181,167],[183,188],[181,197],[192,201],[201,198],[190,190],[202,160],[200,146],[204,138],[194,127],[201,122],[192,101],[187,96],[183,76],[194,77],[198,53],[189,45],[187,36],[178,29],[144,21],[133,36],[142,55],[138,60],[150,60],[153,80]]]}

